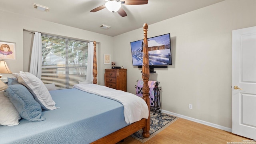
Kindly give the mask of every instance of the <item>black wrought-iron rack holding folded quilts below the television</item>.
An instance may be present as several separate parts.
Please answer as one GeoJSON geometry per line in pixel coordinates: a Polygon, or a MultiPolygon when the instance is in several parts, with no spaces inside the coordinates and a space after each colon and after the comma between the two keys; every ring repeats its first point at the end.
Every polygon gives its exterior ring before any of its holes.
{"type": "MultiPolygon", "coordinates": [[[[139,80],[137,80],[138,82],[139,80]]],[[[158,110],[159,113],[160,111],[160,107],[161,107],[161,101],[160,101],[160,90],[162,89],[162,87],[158,87],[160,82],[156,82],[156,85],[154,87],[154,106],[150,106],[151,110],[154,110],[154,114],[156,114],[156,111],[158,110]]],[[[135,85],[135,88],[137,88],[137,85],[135,85]]]]}

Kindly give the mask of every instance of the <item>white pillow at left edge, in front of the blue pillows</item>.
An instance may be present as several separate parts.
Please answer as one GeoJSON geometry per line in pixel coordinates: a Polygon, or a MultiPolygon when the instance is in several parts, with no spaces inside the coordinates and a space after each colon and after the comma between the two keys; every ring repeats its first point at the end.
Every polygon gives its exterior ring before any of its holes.
{"type": "Polygon", "coordinates": [[[4,91],[0,91],[0,124],[3,126],[14,126],[19,124],[20,114],[9,100],[4,96],[4,91]]]}

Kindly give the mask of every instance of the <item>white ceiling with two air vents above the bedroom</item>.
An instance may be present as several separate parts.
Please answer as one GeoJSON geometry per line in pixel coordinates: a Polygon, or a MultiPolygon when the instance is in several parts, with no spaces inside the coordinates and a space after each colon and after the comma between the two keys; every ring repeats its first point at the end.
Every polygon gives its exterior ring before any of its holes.
{"type": "MultiPolygon", "coordinates": [[[[124,0],[122,0],[124,1],[124,0]]],[[[141,28],[144,23],[154,24],[224,0],[148,0],[145,5],[122,5],[127,16],[106,8],[98,12],[90,10],[104,5],[105,0],[0,0],[0,9],[42,20],[97,32],[108,36],[117,36],[141,28]],[[43,12],[33,4],[47,6],[50,11],[43,12]],[[105,24],[111,28],[105,30],[99,26],[105,24]]]]}

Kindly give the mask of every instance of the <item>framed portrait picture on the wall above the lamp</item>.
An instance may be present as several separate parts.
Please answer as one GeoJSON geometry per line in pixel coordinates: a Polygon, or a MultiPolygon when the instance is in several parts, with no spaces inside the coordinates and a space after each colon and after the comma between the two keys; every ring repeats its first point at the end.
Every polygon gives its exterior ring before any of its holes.
{"type": "Polygon", "coordinates": [[[0,41],[0,59],[16,60],[16,43],[0,41]]]}

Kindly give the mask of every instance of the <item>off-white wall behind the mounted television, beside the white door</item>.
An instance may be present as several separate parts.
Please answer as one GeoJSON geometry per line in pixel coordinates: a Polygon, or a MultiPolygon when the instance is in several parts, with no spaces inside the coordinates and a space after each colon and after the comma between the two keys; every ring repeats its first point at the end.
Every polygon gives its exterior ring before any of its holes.
{"type": "MultiPolygon", "coordinates": [[[[148,38],[171,34],[173,65],[150,74],[162,87],[162,109],[232,128],[232,30],[250,26],[256,26],[256,0],[226,0],[149,25],[148,38]]],[[[114,59],[128,69],[132,93],[142,78],[130,42],[141,39],[143,28],[114,37],[114,59]]]]}

